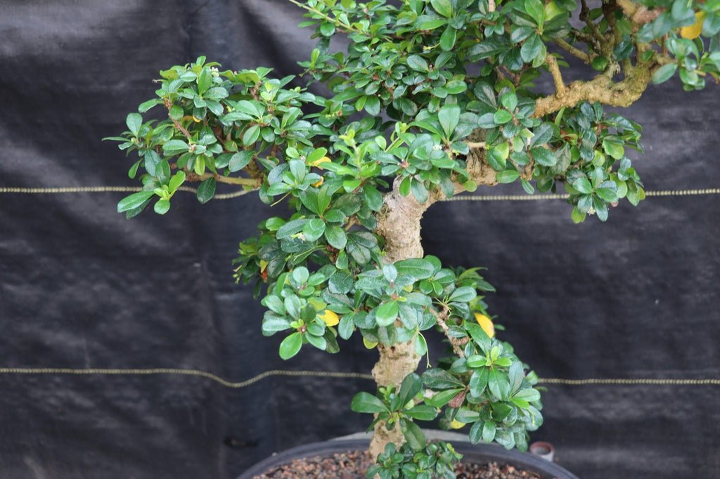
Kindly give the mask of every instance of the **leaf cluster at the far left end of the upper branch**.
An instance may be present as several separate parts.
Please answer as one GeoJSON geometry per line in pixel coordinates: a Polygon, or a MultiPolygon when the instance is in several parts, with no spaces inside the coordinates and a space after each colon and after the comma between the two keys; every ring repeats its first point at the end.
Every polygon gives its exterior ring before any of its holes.
{"type": "Polygon", "coordinates": [[[284,88],[292,77],[267,78],[267,68],[220,72],[218,66],[200,57],[162,70],[157,98],[127,116],[128,131],[122,136],[106,138],[121,142],[121,150],[138,153],[130,178],[145,170],[140,176],[143,191],[120,201],[118,211],[135,216],[157,196],[156,212],[164,214],[177,188],[191,178],[202,181],[197,198],[205,203],[214,196],[217,181],[259,184],[230,175],[271,170],[278,163],[273,152],[279,145],[312,145],[311,125],[300,109],[315,101],[312,93],[284,88]],[[144,121],[141,114],[156,106],[166,109],[166,117],[144,121]]]}

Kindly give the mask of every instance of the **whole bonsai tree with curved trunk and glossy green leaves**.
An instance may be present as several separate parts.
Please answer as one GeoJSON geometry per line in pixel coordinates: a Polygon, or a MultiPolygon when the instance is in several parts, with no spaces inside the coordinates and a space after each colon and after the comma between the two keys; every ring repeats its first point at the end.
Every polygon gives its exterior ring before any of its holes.
{"type": "Polygon", "coordinates": [[[542,423],[536,375],[495,336],[479,268],[423,255],[420,218],[513,182],[564,188],[574,222],[638,204],[626,151],[641,149],[641,127],[606,106],[630,106],[675,73],[688,91],[718,81],[720,1],[288,1],[318,38],[302,78],[330,93],[204,57],[161,71],[157,97],[112,138],[137,153],[129,175],[143,183],[118,211],[166,214],[187,182],[201,203],[228,183],[289,207],[240,243],[235,277],[255,281],[262,332],[282,334],[283,359],[338,352],[354,334],[377,349],[377,391],[351,403],[374,414],[369,477],[454,477],[459,455],[415,422],[438,415],[468,424],[472,442],[525,449],[542,423]],[[334,35],[346,51],[330,49],[334,35]],[[567,60],[587,79],[566,83],[567,60]],[[546,73],[551,91],[535,83],[546,73]],[[143,119],[150,109],[160,121],[143,119]],[[420,376],[435,332],[451,355],[420,376]]]}

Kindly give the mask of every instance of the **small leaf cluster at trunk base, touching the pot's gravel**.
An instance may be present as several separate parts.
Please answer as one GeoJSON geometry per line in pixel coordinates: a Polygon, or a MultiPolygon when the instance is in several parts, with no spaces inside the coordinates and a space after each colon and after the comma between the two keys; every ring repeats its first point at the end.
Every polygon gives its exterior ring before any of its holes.
{"type": "Polygon", "coordinates": [[[377,458],[377,464],[368,468],[366,478],[373,479],[455,479],[454,464],[462,454],[447,442],[430,442],[420,450],[405,443],[398,448],[390,442],[377,458]]]}

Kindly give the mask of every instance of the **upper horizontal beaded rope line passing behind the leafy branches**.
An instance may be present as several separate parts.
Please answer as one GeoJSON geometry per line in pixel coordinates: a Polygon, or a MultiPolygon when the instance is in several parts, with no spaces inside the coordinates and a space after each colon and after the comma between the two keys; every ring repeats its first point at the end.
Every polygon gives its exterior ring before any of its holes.
{"type": "MultiPolygon", "coordinates": [[[[181,186],[180,191],[188,193],[197,193],[196,188],[190,186],[181,186]]],[[[58,193],[109,193],[109,192],[132,192],[141,191],[139,186],[68,186],[58,188],[19,188],[12,186],[0,186],[0,193],[24,193],[24,194],[58,194],[58,193]]],[[[218,193],[215,199],[233,199],[251,193],[248,191],[235,191],[233,193],[218,193]]],[[[716,195],[720,194],[720,188],[704,188],[696,190],[660,190],[647,191],[646,196],[696,196],[696,195],[716,195]]],[[[541,201],[554,199],[567,199],[570,195],[557,194],[539,194],[539,195],[469,195],[469,196],[453,196],[444,201],[541,201]]]]}

